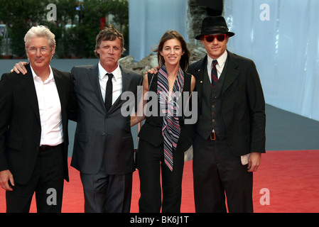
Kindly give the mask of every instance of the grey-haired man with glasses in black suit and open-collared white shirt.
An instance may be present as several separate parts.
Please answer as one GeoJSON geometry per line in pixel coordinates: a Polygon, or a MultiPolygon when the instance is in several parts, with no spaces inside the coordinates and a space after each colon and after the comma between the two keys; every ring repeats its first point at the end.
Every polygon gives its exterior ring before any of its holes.
{"type": "Polygon", "coordinates": [[[34,192],[38,212],[60,212],[72,77],[50,67],[55,35],[48,28],[32,27],[25,42],[27,74],[3,74],[0,82],[0,185],[7,212],[28,212],[34,192]]]}

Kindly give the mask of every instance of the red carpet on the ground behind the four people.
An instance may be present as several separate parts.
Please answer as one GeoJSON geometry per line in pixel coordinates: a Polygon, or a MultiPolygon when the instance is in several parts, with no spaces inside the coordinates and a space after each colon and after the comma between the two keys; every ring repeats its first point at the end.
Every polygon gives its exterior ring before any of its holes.
{"type": "MultiPolygon", "coordinates": [[[[319,212],[319,150],[268,151],[254,173],[254,211],[256,213],[319,212]],[[269,197],[265,199],[267,189],[269,197]],[[261,193],[260,193],[261,192],[261,193]],[[267,200],[268,199],[268,200],[267,200]],[[262,206],[261,201],[269,201],[262,206]]],[[[69,160],[70,161],[70,160],[69,160]]],[[[134,172],[131,212],[138,212],[139,174],[134,172]]],[[[80,175],[70,167],[70,182],[65,182],[64,213],[82,213],[84,199],[80,175]]],[[[0,190],[0,212],[6,211],[5,192],[0,190]]],[[[31,212],[36,212],[33,200],[31,212]]],[[[195,212],[192,162],[185,163],[181,211],[195,212]]]]}

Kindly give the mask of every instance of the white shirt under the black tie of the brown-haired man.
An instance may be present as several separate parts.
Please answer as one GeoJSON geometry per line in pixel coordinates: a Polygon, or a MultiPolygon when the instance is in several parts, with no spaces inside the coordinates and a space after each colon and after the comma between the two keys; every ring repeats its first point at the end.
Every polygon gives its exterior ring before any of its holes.
{"type": "Polygon", "coordinates": [[[113,92],[112,92],[112,105],[115,101],[119,98],[121,95],[121,89],[122,89],[122,74],[121,69],[119,67],[119,63],[117,63],[117,69],[115,69],[113,72],[107,72],[107,70],[104,70],[102,65],[99,63],[99,87],[101,89],[103,101],[105,101],[105,88],[107,87],[107,80],[109,79],[109,76],[107,76],[107,73],[112,73],[112,84],[113,84],[113,92]]]}

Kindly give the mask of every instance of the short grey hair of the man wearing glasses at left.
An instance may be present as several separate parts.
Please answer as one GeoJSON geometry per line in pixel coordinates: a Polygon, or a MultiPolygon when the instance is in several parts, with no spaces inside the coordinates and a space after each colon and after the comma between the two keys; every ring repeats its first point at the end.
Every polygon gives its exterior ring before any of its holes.
{"type": "Polygon", "coordinates": [[[55,35],[46,26],[33,26],[24,36],[26,48],[30,45],[31,38],[47,38],[51,50],[55,48],[55,35]]]}

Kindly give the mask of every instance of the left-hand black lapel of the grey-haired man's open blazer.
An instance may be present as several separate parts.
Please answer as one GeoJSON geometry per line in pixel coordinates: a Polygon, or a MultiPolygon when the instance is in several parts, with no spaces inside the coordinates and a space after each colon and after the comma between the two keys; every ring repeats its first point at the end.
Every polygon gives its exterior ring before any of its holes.
{"type": "Polygon", "coordinates": [[[39,105],[38,105],[38,96],[36,95],[36,86],[34,85],[33,75],[31,72],[30,65],[26,65],[27,73],[22,76],[21,79],[21,87],[23,89],[24,94],[26,94],[26,98],[28,99],[34,114],[36,114],[36,118],[38,119],[38,123],[40,124],[40,114],[39,114],[39,105]]]}

